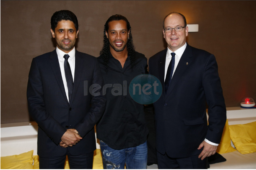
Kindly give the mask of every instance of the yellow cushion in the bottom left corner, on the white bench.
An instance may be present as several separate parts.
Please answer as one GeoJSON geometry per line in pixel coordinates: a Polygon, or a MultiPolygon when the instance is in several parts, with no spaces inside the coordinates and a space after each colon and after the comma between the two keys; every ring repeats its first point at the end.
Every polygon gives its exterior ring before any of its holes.
{"type": "Polygon", "coordinates": [[[1,157],[1,169],[33,169],[33,152],[1,157]]]}

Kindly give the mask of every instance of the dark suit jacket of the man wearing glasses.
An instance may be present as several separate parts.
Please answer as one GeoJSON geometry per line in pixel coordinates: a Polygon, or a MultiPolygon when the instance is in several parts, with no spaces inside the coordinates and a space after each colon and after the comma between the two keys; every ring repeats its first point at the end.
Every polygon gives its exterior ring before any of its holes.
{"type": "Polygon", "coordinates": [[[162,50],[149,59],[150,74],[163,87],[161,97],[154,103],[156,149],[173,158],[190,157],[201,153],[202,149],[197,148],[204,138],[213,143],[221,141],[226,106],[218,66],[214,55],[187,44],[165,94],[166,52],[167,49],[162,50]]]}

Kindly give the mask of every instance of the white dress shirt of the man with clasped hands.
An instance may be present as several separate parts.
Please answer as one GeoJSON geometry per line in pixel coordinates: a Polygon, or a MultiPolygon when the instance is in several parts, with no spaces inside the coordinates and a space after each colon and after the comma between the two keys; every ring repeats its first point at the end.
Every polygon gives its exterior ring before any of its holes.
{"type": "Polygon", "coordinates": [[[59,60],[59,64],[60,64],[60,72],[61,72],[61,77],[62,77],[62,80],[63,80],[63,85],[64,85],[64,88],[65,88],[65,93],[66,93],[67,99],[69,101],[69,98],[68,98],[68,85],[67,85],[66,76],[65,76],[65,70],[64,70],[64,61],[65,61],[64,55],[65,54],[69,55],[68,64],[70,66],[71,74],[72,74],[73,82],[74,82],[74,77],[75,77],[75,53],[76,53],[76,50],[75,50],[75,47],[74,47],[73,50],[71,50],[69,53],[64,53],[62,50],[60,50],[58,47],[56,47],[56,52],[57,52],[58,60],[59,60]]]}

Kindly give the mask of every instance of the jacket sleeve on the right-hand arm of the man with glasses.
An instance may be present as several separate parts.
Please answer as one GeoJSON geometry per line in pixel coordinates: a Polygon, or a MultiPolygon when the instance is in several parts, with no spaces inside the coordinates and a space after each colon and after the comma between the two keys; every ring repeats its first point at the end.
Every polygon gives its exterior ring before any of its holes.
{"type": "Polygon", "coordinates": [[[213,143],[220,143],[226,122],[226,105],[218,75],[218,65],[212,54],[204,66],[202,85],[209,114],[209,125],[205,138],[213,143]]]}

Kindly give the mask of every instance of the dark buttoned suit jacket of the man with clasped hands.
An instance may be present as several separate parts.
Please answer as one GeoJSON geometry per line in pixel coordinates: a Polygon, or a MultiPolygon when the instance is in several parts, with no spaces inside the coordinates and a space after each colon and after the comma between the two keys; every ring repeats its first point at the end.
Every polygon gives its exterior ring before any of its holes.
{"type": "MultiPolygon", "coordinates": [[[[97,58],[76,50],[74,88],[68,104],[56,50],[33,58],[27,85],[30,116],[38,123],[38,155],[57,157],[90,153],[96,149],[94,125],[101,118],[105,97],[92,96],[90,85],[103,87],[103,78],[97,58]],[[76,129],[83,139],[76,145],[62,148],[58,145],[68,128],[76,129]]],[[[95,93],[96,93],[95,92],[95,93]]]]}

